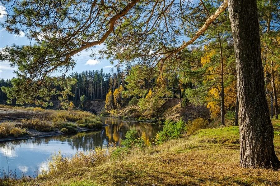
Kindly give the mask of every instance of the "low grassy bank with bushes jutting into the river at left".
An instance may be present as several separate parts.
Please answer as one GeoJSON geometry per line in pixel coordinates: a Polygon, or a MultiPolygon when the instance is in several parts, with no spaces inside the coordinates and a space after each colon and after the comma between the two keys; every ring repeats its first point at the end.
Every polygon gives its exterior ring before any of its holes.
{"type": "Polygon", "coordinates": [[[45,110],[0,105],[0,111],[3,121],[0,124],[0,138],[31,137],[37,135],[36,131],[76,133],[81,130],[100,129],[103,126],[99,116],[80,110],[45,110]],[[30,131],[31,129],[35,131],[30,131]]]}

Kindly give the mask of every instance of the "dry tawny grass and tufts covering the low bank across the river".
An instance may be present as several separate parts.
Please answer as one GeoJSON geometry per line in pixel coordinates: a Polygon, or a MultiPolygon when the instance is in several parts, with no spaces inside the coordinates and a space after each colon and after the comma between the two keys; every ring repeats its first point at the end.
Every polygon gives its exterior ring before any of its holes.
{"type": "MultiPolygon", "coordinates": [[[[0,114],[1,117],[6,117],[8,120],[21,119],[20,122],[17,123],[17,126],[21,128],[32,128],[41,132],[67,128],[68,133],[76,133],[78,131],[77,124],[89,129],[98,129],[103,125],[99,116],[86,111],[45,110],[40,107],[24,108],[12,107],[9,105],[0,105],[0,108],[4,108],[2,109],[3,113],[0,114]]],[[[17,133],[18,130],[13,132],[17,133]]],[[[2,131],[2,134],[3,135],[0,134],[0,138],[7,137],[4,131],[2,131]]]]}

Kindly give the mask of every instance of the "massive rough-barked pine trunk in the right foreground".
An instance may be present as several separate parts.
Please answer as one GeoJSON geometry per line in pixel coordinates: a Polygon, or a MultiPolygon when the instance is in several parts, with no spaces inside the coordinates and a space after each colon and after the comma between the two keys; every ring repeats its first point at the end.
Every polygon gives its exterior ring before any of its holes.
{"type": "Polygon", "coordinates": [[[275,167],[273,126],[264,93],[256,0],[229,0],[239,100],[240,166],[275,167]]]}

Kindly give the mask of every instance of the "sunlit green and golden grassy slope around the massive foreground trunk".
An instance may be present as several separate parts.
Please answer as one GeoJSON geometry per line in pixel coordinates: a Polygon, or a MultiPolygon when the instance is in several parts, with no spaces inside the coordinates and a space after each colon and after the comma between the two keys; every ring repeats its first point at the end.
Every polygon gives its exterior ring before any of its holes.
{"type": "MultiPolygon", "coordinates": [[[[273,120],[280,157],[280,120],[273,120]]],[[[239,167],[238,127],[197,131],[97,167],[37,178],[40,185],[280,185],[280,171],[239,167]]],[[[23,185],[34,185],[22,183],[23,185]]]]}

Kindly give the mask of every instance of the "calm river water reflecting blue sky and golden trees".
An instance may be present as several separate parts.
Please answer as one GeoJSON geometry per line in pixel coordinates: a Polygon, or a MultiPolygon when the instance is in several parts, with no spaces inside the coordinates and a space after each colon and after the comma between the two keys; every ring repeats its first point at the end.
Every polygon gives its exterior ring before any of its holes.
{"type": "Polygon", "coordinates": [[[113,117],[102,119],[107,126],[99,131],[0,142],[1,174],[12,172],[19,177],[21,175],[35,177],[47,168],[51,156],[59,151],[71,157],[77,151],[86,151],[95,147],[106,148],[111,143],[119,145],[126,132],[133,126],[138,136],[143,136],[146,141],[154,138],[156,132],[161,130],[161,126],[153,123],[124,122],[113,117]]]}

